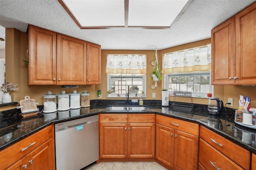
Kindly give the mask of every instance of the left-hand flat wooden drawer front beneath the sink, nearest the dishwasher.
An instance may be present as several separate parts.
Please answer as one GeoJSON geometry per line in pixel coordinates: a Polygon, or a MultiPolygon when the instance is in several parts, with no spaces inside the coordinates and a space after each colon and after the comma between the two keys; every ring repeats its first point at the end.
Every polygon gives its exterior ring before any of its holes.
{"type": "Polygon", "coordinates": [[[127,123],[127,114],[100,114],[100,123],[127,123]]]}

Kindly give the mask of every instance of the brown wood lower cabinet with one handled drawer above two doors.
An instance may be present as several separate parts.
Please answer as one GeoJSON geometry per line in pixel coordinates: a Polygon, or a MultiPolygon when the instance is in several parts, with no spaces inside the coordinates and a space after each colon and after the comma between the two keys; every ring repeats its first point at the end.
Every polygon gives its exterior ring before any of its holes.
{"type": "Polygon", "coordinates": [[[199,125],[161,115],[156,123],[156,161],[166,168],[196,170],[199,125]]]}

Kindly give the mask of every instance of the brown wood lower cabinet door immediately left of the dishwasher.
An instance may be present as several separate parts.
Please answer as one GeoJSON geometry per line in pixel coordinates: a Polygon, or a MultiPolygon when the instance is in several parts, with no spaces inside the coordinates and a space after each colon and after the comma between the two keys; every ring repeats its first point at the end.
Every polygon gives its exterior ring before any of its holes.
{"type": "Polygon", "coordinates": [[[52,139],[48,140],[26,156],[28,167],[31,170],[53,170],[54,156],[52,152],[52,139]]]}

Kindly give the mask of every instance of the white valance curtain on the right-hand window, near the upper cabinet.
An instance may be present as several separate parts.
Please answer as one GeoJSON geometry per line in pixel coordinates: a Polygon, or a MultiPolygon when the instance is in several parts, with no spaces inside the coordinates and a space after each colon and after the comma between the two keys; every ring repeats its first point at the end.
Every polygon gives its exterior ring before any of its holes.
{"type": "Polygon", "coordinates": [[[208,71],[211,69],[211,44],[164,54],[162,73],[208,71]]]}

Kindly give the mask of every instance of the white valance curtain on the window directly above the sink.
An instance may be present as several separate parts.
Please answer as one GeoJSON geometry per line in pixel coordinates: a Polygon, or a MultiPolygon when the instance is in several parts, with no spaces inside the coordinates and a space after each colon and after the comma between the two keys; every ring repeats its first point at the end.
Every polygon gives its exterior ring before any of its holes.
{"type": "Polygon", "coordinates": [[[106,73],[146,74],[146,55],[108,54],[106,73]]]}

